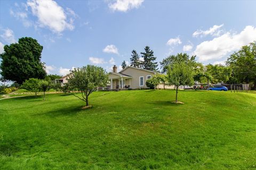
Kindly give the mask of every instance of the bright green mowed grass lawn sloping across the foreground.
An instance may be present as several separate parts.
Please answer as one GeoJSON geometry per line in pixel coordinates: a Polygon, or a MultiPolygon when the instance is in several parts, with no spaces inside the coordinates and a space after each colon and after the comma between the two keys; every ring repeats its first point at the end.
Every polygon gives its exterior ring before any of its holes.
{"type": "Polygon", "coordinates": [[[0,169],[254,169],[256,95],[173,90],[0,100],[0,169]]]}

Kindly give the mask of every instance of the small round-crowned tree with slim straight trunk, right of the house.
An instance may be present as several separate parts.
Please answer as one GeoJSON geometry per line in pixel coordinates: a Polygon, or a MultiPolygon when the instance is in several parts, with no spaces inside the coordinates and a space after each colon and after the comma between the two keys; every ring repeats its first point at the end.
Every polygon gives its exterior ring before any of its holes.
{"type": "Polygon", "coordinates": [[[193,68],[191,65],[186,64],[185,62],[177,62],[169,67],[167,71],[167,79],[170,84],[173,84],[176,89],[176,100],[175,103],[178,103],[178,89],[179,86],[191,85],[194,83],[193,80],[193,68]]]}

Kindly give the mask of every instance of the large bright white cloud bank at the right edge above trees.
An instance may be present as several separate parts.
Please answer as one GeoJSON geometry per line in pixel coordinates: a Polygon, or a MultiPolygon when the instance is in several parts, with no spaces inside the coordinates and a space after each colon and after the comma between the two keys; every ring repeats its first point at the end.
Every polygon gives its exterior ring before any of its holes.
{"type": "Polygon", "coordinates": [[[223,35],[196,46],[194,55],[200,62],[219,60],[230,52],[238,50],[256,39],[256,28],[249,25],[239,33],[226,32],[223,35]]]}

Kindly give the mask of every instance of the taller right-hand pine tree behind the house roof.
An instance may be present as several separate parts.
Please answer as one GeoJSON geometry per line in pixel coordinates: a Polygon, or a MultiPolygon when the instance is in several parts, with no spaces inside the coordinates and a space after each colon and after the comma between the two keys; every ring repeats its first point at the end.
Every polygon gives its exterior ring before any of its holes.
{"type": "Polygon", "coordinates": [[[154,62],[156,60],[156,57],[154,57],[154,52],[149,48],[149,46],[146,46],[145,53],[140,53],[143,57],[143,62],[141,62],[142,68],[151,70],[151,71],[157,71],[157,62],[154,62]]]}

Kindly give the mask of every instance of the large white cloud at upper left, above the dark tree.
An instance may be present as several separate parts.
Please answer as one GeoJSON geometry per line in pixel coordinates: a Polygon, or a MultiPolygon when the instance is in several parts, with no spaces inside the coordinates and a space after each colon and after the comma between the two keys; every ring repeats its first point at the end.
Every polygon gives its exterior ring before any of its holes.
{"type": "Polygon", "coordinates": [[[67,18],[67,14],[74,16],[74,11],[69,8],[67,8],[67,11],[63,10],[55,1],[28,0],[27,6],[31,7],[33,15],[38,18],[39,27],[49,28],[55,33],[75,28],[73,18],[67,18]]]}

